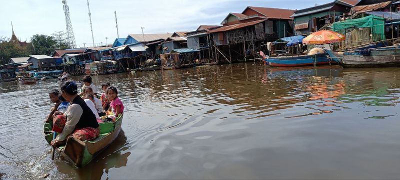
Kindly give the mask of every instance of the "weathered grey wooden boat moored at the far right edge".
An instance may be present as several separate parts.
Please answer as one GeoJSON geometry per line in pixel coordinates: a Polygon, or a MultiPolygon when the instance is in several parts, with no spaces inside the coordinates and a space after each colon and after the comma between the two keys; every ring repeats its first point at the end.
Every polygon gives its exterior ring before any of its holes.
{"type": "Polygon", "coordinates": [[[343,67],[396,67],[400,66],[400,46],[344,51],[341,56],[343,67]]]}

